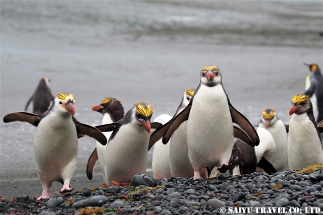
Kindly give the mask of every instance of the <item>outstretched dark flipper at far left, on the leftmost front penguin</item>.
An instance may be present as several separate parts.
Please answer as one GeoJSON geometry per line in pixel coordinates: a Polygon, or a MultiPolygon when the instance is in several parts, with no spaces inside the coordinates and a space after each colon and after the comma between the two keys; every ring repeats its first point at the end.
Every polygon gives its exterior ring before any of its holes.
{"type": "Polygon", "coordinates": [[[3,122],[5,123],[10,123],[15,121],[27,122],[37,127],[40,121],[40,116],[41,115],[32,114],[28,112],[14,112],[14,113],[5,115],[3,117],[3,122]]]}

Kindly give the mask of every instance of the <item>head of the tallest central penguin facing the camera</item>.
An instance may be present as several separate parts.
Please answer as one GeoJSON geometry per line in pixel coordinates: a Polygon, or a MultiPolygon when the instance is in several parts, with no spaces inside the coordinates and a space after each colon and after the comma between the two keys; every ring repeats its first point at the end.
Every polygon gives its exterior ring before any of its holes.
{"type": "Polygon", "coordinates": [[[222,82],[221,71],[217,66],[205,66],[200,72],[201,82],[206,86],[215,86],[222,82]]]}

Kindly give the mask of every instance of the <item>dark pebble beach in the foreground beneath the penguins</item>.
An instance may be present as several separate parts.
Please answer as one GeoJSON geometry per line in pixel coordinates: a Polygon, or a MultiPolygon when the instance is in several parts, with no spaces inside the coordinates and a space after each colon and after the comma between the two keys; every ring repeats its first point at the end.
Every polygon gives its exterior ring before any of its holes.
{"type": "Polygon", "coordinates": [[[315,214],[323,211],[322,167],[300,173],[254,172],[199,180],[163,178],[153,184],[141,181],[141,185],[103,184],[40,201],[29,196],[1,198],[0,214],[315,214]]]}

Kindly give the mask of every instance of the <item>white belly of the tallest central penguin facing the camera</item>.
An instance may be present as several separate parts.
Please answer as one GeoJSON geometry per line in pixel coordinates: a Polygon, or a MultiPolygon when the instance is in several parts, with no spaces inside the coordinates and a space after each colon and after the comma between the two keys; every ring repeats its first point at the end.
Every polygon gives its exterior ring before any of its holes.
{"type": "Polygon", "coordinates": [[[233,148],[233,124],[221,85],[202,85],[194,96],[187,121],[187,146],[194,170],[228,163],[233,148]]]}

